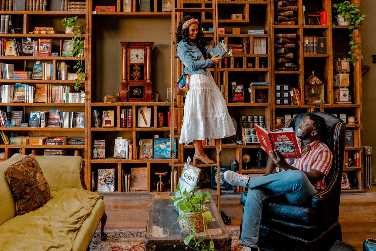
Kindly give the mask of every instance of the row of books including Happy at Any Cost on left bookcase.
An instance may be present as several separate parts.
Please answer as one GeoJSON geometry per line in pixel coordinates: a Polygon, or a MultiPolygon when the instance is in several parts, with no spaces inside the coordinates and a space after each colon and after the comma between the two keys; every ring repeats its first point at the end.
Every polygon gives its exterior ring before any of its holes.
{"type": "Polygon", "coordinates": [[[68,85],[15,84],[0,87],[1,103],[84,103],[82,93],[68,85]]]}

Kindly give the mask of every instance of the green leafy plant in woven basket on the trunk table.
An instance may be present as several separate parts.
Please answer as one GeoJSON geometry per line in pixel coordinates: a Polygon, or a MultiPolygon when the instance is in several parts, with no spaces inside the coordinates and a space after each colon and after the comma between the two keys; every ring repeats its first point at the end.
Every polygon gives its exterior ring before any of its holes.
{"type": "Polygon", "coordinates": [[[211,212],[206,207],[206,202],[209,202],[210,193],[202,193],[201,190],[192,190],[190,192],[181,191],[180,183],[177,183],[176,190],[171,197],[173,202],[171,206],[177,202],[176,207],[179,209],[179,222],[181,232],[185,231],[188,236],[185,237],[184,243],[190,248],[199,251],[215,251],[214,242],[210,237],[209,245],[205,245],[204,238],[207,230],[207,223],[212,222],[211,212]],[[179,196],[182,195],[182,196],[179,196]],[[204,232],[204,235],[200,239],[196,239],[196,233],[204,232]],[[195,246],[190,246],[191,240],[194,240],[195,246]]]}

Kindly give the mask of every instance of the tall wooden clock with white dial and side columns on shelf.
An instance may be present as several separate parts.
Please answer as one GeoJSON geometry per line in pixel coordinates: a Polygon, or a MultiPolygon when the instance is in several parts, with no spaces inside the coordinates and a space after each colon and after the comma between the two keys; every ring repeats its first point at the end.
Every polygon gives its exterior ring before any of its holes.
{"type": "Polygon", "coordinates": [[[120,42],[122,49],[121,102],[152,101],[154,42],[120,42]]]}

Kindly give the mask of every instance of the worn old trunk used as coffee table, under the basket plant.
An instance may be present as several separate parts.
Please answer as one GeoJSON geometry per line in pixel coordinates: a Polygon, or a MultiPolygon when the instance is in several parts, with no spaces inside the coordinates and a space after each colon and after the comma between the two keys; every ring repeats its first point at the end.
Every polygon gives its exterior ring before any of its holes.
{"type": "MultiPolygon", "coordinates": [[[[185,232],[180,233],[179,214],[171,207],[172,193],[150,193],[149,211],[145,236],[146,251],[185,251],[193,250],[184,244],[185,232]]],[[[210,197],[210,208],[213,221],[208,223],[208,231],[212,236],[216,251],[231,251],[231,236],[224,225],[213,197],[210,197]]],[[[197,233],[202,237],[203,233],[197,233]]],[[[210,237],[205,234],[205,243],[210,237]]],[[[190,246],[194,246],[191,241],[190,246]]]]}

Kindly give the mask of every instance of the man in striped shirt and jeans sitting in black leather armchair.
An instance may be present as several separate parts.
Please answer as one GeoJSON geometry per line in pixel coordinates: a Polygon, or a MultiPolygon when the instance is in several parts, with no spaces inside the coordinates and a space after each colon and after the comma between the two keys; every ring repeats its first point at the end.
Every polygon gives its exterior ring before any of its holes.
{"type": "Polygon", "coordinates": [[[265,199],[283,196],[291,204],[303,205],[325,189],[325,176],[332,166],[333,155],[318,138],[326,131],[325,120],[313,113],[302,120],[297,131],[297,142],[302,155],[299,159],[285,159],[274,149],[269,152],[265,175],[250,178],[226,171],[224,179],[233,186],[249,188],[243,214],[242,251],[257,251],[262,203],[265,199]],[[281,172],[272,174],[275,167],[281,172]],[[285,172],[284,172],[285,171],[285,172]]]}

